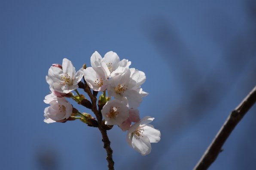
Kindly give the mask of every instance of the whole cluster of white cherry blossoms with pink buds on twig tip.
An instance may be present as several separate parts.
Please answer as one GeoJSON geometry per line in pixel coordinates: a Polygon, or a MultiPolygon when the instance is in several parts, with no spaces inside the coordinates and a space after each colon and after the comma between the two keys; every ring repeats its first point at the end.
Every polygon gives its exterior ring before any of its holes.
{"type": "Polygon", "coordinates": [[[89,103],[86,107],[91,108],[91,103],[77,91],[84,78],[84,84],[92,91],[102,92],[99,102],[103,103],[103,107],[99,110],[104,124],[117,125],[122,131],[128,131],[128,144],[141,155],[149,154],[150,143],[160,141],[161,133],[149,124],[154,120],[153,117],[146,116],[140,119],[137,108],[142,98],[148,95],[141,88],[146,76],[142,71],[129,68],[130,65],[131,62],[126,59],[120,61],[119,56],[113,51],[106,53],[103,58],[95,51],[91,56],[91,67],[82,67],[77,72],[68,59],[63,59],[62,65],[53,64],[46,76],[51,94],[44,100],[50,105],[45,108],[44,121],[53,123],[80,119],[89,125],[88,120],[94,120],[90,114],[80,113],[73,108],[65,98],[70,97],[78,104],[86,101],[89,103]],[[74,96],[72,91],[75,91],[77,96],[74,96]]]}

